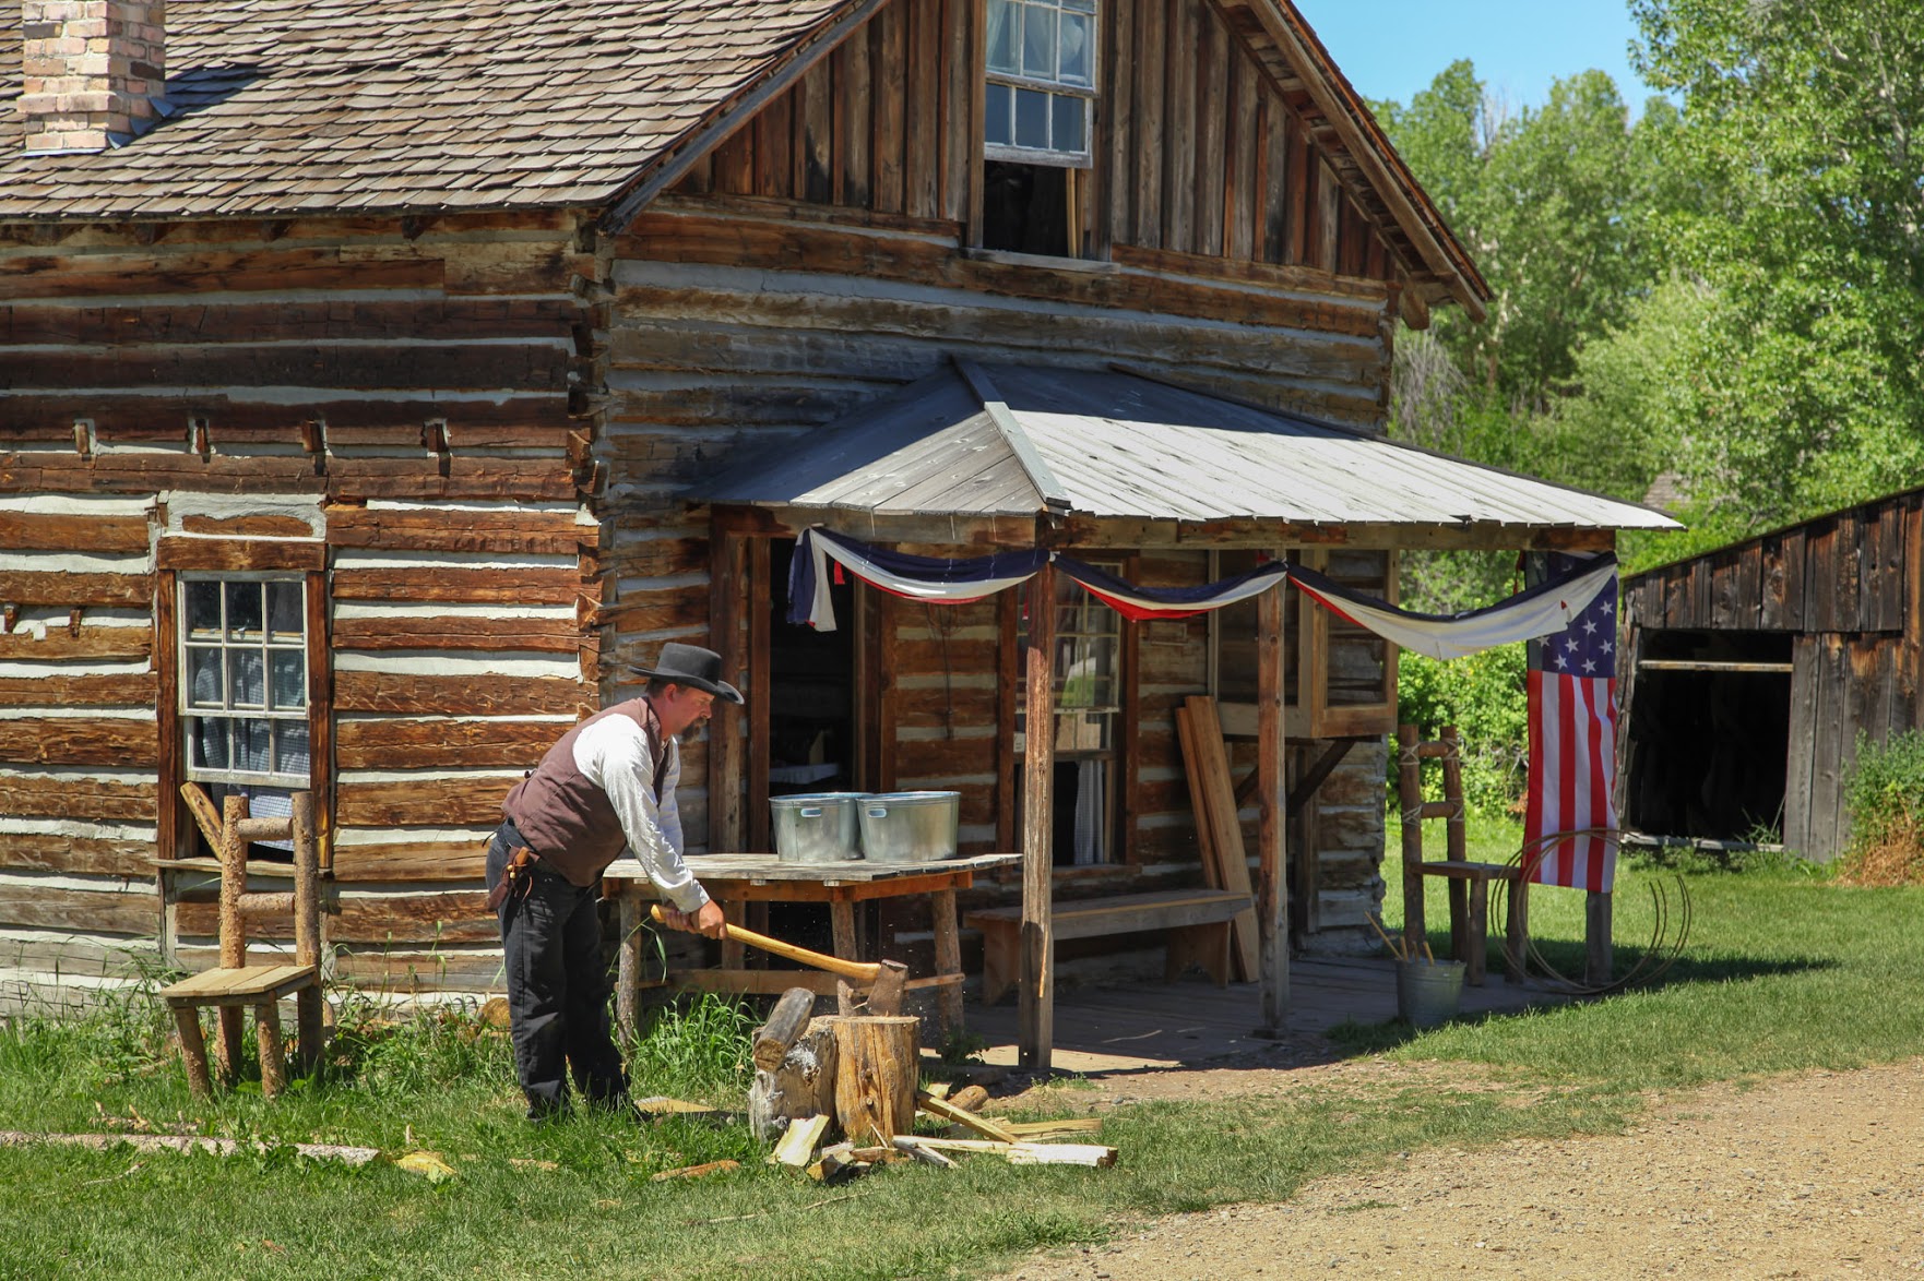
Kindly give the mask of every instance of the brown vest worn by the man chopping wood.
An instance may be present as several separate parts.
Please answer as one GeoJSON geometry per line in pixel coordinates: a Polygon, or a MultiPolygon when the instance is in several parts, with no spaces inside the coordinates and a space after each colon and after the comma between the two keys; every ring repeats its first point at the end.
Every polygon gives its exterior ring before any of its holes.
{"type": "Polygon", "coordinates": [[[535,771],[514,785],[500,812],[521,829],[527,844],[541,860],[568,877],[570,885],[589,887],[621,856],[627,833],[608,800],[608,792],[575,769],[575,739],[581,731],[610,716],[625,716],[648,735],[654,760],[654,798],[662,798],[662,779],[668,777],[671,742],[662,741],[662,721],[646,698],[629,698],[587,717],[548,748],[535,771]]]}

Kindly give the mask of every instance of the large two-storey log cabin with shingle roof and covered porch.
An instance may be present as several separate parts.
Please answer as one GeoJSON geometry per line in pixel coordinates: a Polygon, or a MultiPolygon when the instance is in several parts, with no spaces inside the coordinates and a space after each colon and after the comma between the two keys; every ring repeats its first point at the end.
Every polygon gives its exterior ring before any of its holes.
{"type": "Polygon", "coordinates": [[[1193,885],[1208,692],[1266,919],[1358,950],[1387,644],[1051,587],[1025,781],[1041,612],[791,627],[797,535],[1393,598],[1401,548],[1664,523],[1385,439],[1397,327],[1489,290],[1289,0],[0,0],[0,67],[15,996],[208,964],[187,781],[317,796],[339,977],[493,985],[500,798],[664,640],[750,696],[685,752],[693,854],[950,787],[964,852],[1029,854],[981,902],[1193,885]]]}

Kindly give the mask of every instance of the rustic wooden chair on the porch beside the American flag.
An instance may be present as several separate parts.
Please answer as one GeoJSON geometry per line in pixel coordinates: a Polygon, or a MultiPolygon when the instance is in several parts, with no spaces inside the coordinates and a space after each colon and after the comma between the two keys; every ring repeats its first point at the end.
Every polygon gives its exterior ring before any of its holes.
{"type": "Polygon", "coordinates": [[[1416,725],[1397,727],[1397,808],[1403,812],[1403,939],[1424,944],[1424,877],[1449,879],[1451,956],[1464,962],[1464,981],[1481,987],[1489,950],[1489,883],[1505,885],[1503,975],[1524,981],[1528,946],[1528,881],[1518,864],[1476,864],[1468,858],[1462,808],[1462,739],[1445,725],[1424,742],[1416,725]],[[1424,800],[1424,760],[1443,764],[1443,800],[1424,800]],[[1424,858],[1424,821],[1443,819],[1445,856],[1424,858]]]}

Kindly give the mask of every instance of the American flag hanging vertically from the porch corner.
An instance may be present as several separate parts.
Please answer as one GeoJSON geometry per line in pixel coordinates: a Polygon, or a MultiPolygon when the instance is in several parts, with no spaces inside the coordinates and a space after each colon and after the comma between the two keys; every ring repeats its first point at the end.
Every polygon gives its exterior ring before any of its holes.
{"type": "MultiPolygon", "coordinates": [[[[1530,556],[1526,577],[1555,579],[1583,558],[1530,556]]],[[[1576,602],[1570,602],[1576,604],[1576,602]]],[[[1616,879],[1616,575],[1570,625],[1530,642],[1530,792],[1524,854],[1539,885],[1608,892],[1616,879]],[[1612,837],[1557,833],[1610,829],[1612,837]],[[1549,846],[1545,839],[1553,839],[1549,846]]]]}

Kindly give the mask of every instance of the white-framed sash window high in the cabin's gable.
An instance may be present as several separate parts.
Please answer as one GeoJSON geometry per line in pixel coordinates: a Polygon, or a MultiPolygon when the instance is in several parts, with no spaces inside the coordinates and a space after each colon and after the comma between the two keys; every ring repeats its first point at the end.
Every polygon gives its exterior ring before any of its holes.
{"type": "Polygon", "coordinates": [[[1091,163],[1095,6],[1097,0],[989,0],[989,158],[1091,163]]]}

